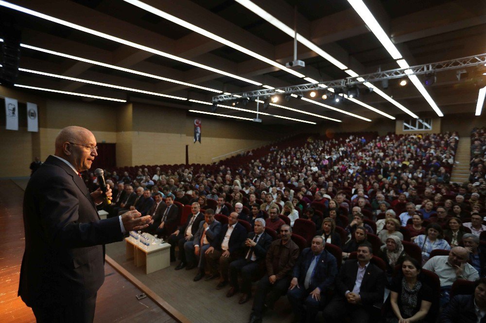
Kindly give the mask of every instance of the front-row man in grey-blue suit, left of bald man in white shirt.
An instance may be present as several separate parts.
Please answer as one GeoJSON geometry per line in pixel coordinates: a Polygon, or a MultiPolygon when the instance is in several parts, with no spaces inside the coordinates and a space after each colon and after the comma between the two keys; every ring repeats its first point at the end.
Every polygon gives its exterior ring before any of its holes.
{"type": "Polygon", "coordinates": [[[211,246],[221,231],[221,223],[214,219],[214,210],[208,209],[204,213],[204,221],[199,223],[199,228],[194,235],[194,240],[184,243],[184,252],[187,259],[187,270],[197,266],[198,273],[194,281],[199,281],[204,277],[206,270],[206,258],[204,253],[211,246]]]}

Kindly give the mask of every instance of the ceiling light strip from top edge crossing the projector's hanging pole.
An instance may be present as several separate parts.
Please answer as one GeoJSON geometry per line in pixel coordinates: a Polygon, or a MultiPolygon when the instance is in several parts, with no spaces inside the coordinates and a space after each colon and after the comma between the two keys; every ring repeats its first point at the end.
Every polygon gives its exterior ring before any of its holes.
{"type": "MultiPolygon", "coordinates": [[[[256,15],[262,17],[278,29],[280,29],[282,32],[285,32],[292,38],[295,36],[295,32],[292,28],[289,26],[285,25],[282,23],[280,20],[278,20],[276,17],[270,15],[268,12],[260,8],[258,5],[253,3],[252,1],[249,0],[236,0],[236,2],[240,3],[243,7],[246,9],[252,11],[256,15]]],[[[319,48],[317,45],[312,43],[310,40],[302,36],[301,34],[297,33],[297,41],[300,42],[302,45],[306,46],[307,48],[313,50],[316,54],[322,56],[326,60],[328,60],[330,63],[336,65],[340,69],[347,69],[347,66],[344,65],[343,63],[339,62],[337,59],[332,57],[330,54],[319,48]]]]}

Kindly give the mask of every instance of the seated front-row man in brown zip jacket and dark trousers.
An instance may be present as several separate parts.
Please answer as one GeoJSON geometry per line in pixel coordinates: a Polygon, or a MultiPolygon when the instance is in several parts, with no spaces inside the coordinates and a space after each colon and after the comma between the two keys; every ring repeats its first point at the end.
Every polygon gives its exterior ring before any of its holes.
{"type": "Polygon", "coordinates": [[[299,247],[291,239],[292,228],[289,225],[281,226],[280,236],[281,239],[272,242],[267,252],[267,275],[258,282],[250,323],[260,323],[264,308],[273,308],[278,298],[289,288],[299,247]]]}

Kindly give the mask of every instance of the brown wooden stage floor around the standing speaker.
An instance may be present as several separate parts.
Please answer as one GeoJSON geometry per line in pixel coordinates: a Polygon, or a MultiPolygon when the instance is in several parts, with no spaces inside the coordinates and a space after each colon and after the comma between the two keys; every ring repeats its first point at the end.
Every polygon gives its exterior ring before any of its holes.
{"type": "MultiPolygon", "coordinates": [[[[0,322],[35,322],[34,314],[17,297],[20,264],[24,251],[22,219],[23,185],[0,180],[0,322]]],[[[176,322],[108,263],[105,281],[96,301],[95,322],[176,322]]]]}

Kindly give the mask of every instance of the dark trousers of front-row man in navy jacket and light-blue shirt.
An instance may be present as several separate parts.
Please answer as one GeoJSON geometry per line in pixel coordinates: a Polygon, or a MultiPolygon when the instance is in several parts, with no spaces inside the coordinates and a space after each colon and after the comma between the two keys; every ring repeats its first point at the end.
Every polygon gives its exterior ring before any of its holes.
{"type": "Polygon", "coordinates": [[[299,319],[300,322],[313,323],[317,312],[324,307],[325,294],[321,292],[321,300],[318,301],[310,295],[312,291],[313,289],[306,290],[302,284],[298,284],[298,287],[287,291],[287,298],[292,306],[295,318],[299,319]]]}

